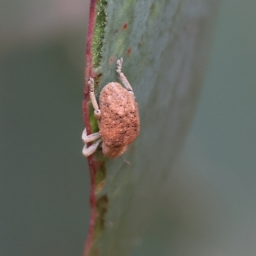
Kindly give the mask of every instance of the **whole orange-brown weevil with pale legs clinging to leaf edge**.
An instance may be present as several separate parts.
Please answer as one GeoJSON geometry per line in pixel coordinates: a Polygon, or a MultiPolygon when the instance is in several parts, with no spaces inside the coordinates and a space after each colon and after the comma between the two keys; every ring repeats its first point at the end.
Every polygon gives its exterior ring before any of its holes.
{"type": "Polygon", "coordinates": [[[123,59],[116,61],[116,72],[125,88],[119,83],[108,83],[100,92],[99,105],[95,98],[94,81],[88,81],[90,98],[94,108],[94,116],[98,120],[99,132],[82,134],[85,145],[84,156],[88,157],[102,143],[102,152],[109,158],[122,155],[140,132],[140,116],[138,104],[134,99],[131,84],[122,73],[123,59]],[[86,143],[95,141],[90,147],[86,143]]]}

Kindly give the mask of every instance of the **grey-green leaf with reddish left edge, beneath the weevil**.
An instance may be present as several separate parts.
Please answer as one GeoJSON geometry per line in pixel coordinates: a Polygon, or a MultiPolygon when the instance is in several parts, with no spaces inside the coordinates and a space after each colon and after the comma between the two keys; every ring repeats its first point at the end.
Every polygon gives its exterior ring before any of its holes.
{"type": "MultiPolygon", "coordinates": [[[[116,60],[124,58],[141,132],[124,154],[131,165],[100,152],[88,157],[92,216],[84,255],[128,255],[140,244],[195,113],[219,3],[91,1],[85,81],[94,77],[99,95],[118,81],[116,60]]],[[[85,124],[97,131],[88,102],[85,83],[85,124]]]]}

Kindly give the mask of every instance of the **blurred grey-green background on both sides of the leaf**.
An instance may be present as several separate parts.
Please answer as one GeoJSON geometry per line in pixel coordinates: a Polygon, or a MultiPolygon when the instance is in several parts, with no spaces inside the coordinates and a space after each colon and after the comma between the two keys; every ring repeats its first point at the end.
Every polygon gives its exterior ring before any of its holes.
{"type": "MultiPolygon", "coordinates": [[[[221,4],[164,211],[132,255],[256,255],[255,13],[254,0],[221,4]]],[[[87,19],[88,0],[0,1],[1,256],[83,252],[87,19]]]]}

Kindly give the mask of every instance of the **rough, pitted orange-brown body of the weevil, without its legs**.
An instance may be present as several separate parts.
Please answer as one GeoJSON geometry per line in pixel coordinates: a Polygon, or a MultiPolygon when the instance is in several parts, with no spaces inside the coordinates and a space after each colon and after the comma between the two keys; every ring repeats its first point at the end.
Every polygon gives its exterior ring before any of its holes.
{"type": "Polygon", "coordinates": [[[108,83],[100,92],[100,135],[103,154],[122,155],[140,132],[138,104],[119,83],[108,83]]]}

